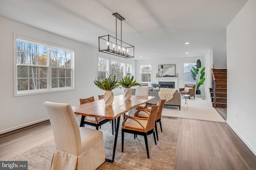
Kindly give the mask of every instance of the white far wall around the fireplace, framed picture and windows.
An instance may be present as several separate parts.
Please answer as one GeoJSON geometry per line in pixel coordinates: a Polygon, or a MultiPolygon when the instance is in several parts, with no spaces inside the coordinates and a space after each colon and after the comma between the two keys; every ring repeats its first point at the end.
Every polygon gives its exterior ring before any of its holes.
{"type": "MultiPolygon", "coordinates": [[[[157,57],[156,57],[157,58],[157,57]]],[[[202,67],[204,67],[204,57],[175,57],[175,58],[166,58],[166,59],[154,59],[154,60],[136,60],[136,80],[141,82],[140,76],[140,65],[142,64],[152,64],[152,83],[156,83],[156,73],[158,73],[158,65],[161,64],[175,64],[176,74],[178,73],[178,88],[184,88],[184,78],[183,78],[183,64],[184,63],[196,63],[200,59],[202,67]]],[[[148,84],[151,86],[151,84],[148,84]]],[[[205,86],[200,87],[201,97],[205,96],[205,86]]]]}

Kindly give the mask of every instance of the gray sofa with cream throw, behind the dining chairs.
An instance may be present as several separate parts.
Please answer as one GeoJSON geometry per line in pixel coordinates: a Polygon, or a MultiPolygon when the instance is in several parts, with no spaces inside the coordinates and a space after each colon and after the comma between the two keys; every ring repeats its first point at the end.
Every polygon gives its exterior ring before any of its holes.
{"type": "MultiPolygon", "coordinates": [[[[132,95],[135,95],[135,91],[136,91],[136,88],[132,88],[132,95]]],[[[152,88],[148,89],[148,96],[155,96],[155,98],[153,100],[150,100],[150,103],[157,104],[158,101],[160,102],[161,99],[158,96],[159,91],[160,91],[160,89],[152,89],[152,88]]],[[[181,106],[180,92],[175,92],[174,95],[173,95],[172,100],[169,100],[169,101],[165,102],[164,105],[179,106],[179,109],[180,109],[180,106],[181,106]]]]}

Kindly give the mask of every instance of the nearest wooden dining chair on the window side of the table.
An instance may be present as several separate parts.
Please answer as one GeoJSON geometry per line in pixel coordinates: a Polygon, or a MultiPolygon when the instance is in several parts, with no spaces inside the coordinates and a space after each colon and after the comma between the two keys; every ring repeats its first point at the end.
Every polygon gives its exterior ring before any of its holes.
{"type": "MultiPolygon", "coordinates": [[[[90,98],[86,98],[86,99],[79,99],[80,100],[80,104],[85,104],[85,103],[89,103],[89,102],[94,102],[94,96],[90,97],[90,98]]],[[[84,125],[91,125],[91,126],[95,126],[97,130],[99,130],[99,127],[101,125],[103,125],[104,123],[107,123],[111,121],[112,122],[112,135],[114,135],[114,121],[110,120],[110,119],[104,119],[104,118],[100,118],[100,117],[92,117],[92,116],[84,116],[82,115],[81,117],[81,122],[80,122],[80,127],[84,127],[84,125]]]]}

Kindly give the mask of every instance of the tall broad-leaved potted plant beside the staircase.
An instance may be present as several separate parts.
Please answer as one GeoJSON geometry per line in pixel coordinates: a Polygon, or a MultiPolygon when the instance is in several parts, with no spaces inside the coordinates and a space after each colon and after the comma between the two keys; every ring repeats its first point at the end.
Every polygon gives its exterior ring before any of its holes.
{"type": "Polygon", "coordinates": [[[200,86],[204,83],[205,77],[205,67],[202,68],[202,70],[199,70],[201,68],[201,61],[198,59],[196,61],[196,67],[192,66],[193,70],[190,69],[192,78],[196,81],[196,94],[201,94],[201,91],[199,90],[200,86]]]}

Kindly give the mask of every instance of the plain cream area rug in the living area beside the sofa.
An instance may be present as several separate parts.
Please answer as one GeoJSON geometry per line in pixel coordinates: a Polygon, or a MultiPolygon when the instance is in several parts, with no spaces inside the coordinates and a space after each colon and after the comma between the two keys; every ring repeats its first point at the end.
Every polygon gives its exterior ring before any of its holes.
{"type": "Polygon", "coordinates": [[[226,122],[222,116],[212,107],[208,100],[202,98],[187,98],[188,108],[185,109],[185,98],[181,98],[181,107],[164,106],[163,116],[179,117],[184,119],[195,119],[214,122],[226,122]]]}

